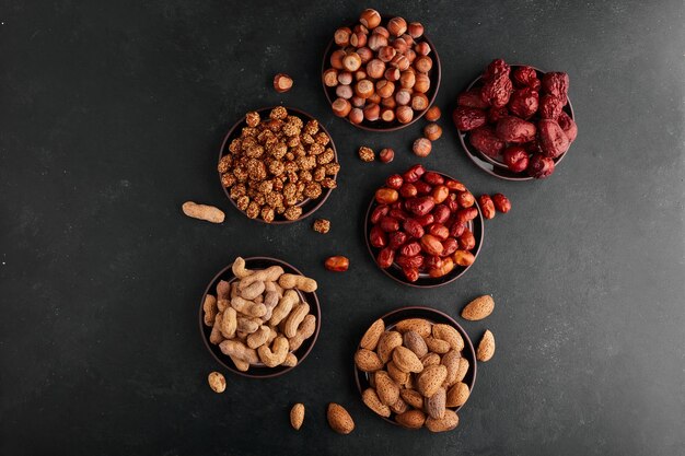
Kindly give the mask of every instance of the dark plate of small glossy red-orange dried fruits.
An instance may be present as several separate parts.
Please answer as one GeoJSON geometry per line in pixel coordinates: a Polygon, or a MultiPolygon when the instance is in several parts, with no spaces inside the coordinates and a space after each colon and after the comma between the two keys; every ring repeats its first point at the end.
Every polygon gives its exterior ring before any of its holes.
{"type": "Polygon", "coordinates": [[[367,247],[392,279],[410,287],[440,287],[474,264],[484,237],[480,208],[446,174],[414,165],[375,191],[364,223],[367,247]]]}

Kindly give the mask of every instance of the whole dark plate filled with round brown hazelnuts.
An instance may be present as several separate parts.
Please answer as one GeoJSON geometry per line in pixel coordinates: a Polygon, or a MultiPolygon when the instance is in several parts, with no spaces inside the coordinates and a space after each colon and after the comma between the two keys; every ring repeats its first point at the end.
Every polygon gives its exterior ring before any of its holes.
{"type": "Polygon", "coordinates": [[[421,23],[372,9],[335,31],[322,63],[333,113],[372,131],[398,130],[421,118],[438,95],[440,74],[421,23]]]}

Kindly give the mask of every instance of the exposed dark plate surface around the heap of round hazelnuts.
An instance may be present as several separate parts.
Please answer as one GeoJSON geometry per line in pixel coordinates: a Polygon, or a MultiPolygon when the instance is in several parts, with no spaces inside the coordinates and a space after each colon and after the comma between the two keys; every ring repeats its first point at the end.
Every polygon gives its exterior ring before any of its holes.
{"type": "MultiPolygon", "coordinates": [[[[381,24],[382,25],[387,24],[387,21],[390,21],[393,17],[395,16],[383,14],[381,24]]],[[[430,90],[426,93],[426,96],[428,97],[428,107],[423,109],[421,113],[419,113],[417,116],[415,116],[411,119],[411,121],[408,124],[399,124],[397,120],[393,120],[392,122],[386,122],[383,120],[369,121],[367,119],[364,119],[361,124],[352,124],[349,121],[347,117],[345,117],[344,119],[348,124],[357,128],[361,128],[362,130],[368,130],[368,131],[396,131],[396,130],[400,130],[405,127],[410,126],[411,124],[414,124],[415,121],[423,117],[426,112],[433,105],[436,97],[438,96],[438,90],[440,89],[440,81],[442,79],[442,67],[440,65],[440,56],[438,55],[438,50],[436,50],[436,46],[430,40],[430,38],[428,38],[426,34],[423,34],[421,37],[418,38],[417,43],[421,43],[421,42],[426,42],[430,45],[431,52],[429,54],[429,57],[433,60],[433,68],[431,68],[431,71],[428,73],[430,78],[430,90]]],[[[332,87],[326,86],[326,84],[324,84],[323,74],[324,74],[324,71],[326,71],[326,69],[329,68],[330,66],[329,63],[330,55],[333,54],[335,49],[337,49],[335,40],[330,39],[330,42],[328,43],[328,46],[326,47],[326,50],[324,51],[324,60],[322,62],[322,68],[321,68],[321,84],[324,87],[324,93],[326,94],[326,100],[328,100],[329,105],[333,105],[333,102],[337,98],[337,96],[335,94],[335,87],[332,89],[332,87]]]]}

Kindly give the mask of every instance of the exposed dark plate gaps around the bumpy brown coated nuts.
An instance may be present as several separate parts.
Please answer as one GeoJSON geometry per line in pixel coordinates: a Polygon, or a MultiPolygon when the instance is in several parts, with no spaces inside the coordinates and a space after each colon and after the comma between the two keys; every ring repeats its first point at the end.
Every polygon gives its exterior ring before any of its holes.
{"type": "MultiPolygon", "coordinates": [[[[255,109],[255,110],[257,113],[259,113],[259,116],[262,118],[264,118],[265,115],[266,115],[266,117],[268,117],[269,113],[275,107],[277,107],[277,106],[263,107],[263,108],[255,109]]],[[[307,120],[317,120],[316,118],[314,118],[314,116],[312,116],[309,113],[305,113],[304,110],[297,109],[297,108],[293,108],[293,107],[288,107],[288,106],[286,106],[286,109],[288,109],[289,114],[295,114],[298,117],[300,117],[304,124],[306,124],[307,120]]],[[[233,125],[233,127],[231,127],[231,129],[229,130],[227,136],[223,138],[223,142],[221,143],[221,149],[219,150],[219,160],[221,160],[221,157],[223,155],[225,155],[227,153],[230,153],[228,151],[229,144],[231,143],[231,141],[234,138],[240,137],[240,133],[241,133],[242,129],[244,127],[246,127],[246,126],[247,126],[247,124],[245,121],[245,116],[243,116],[239,121],[236,121],[233,125]]],[[[328,135],[328,138],[330,138],[330,142],[328,143],[328,147],[330,149],[333,149],[333,153],[335,155],[335,163],[338,163],[338,151],[336,150],[335,142],[333,141],[333,137],[330,136],[330,133],[328,132],[326,127],[324,127],[324,125],[322,122],[318,122],[318,128],[321,130],[323,130],[326,135],[328,135]]],[[[217,173],[217,174],[219,174],[219,173],[217,173]]],[[[337,175],[333,176],[333,178],[336,178],[336,177],[337,177],[337,175]]],[[[223,189],[223,192],[227,196],[227,198],[229,199],[229,201],[231,201],[231,204],[233,204],[233,207],[235,209],[237,209],[239,211],[241,211],[241,213],[243,213],[245,217],[247,217],[245,211],[243,211],[243,210],[237,208],[237,204],[231,198],[230,190],[228,188],[225,188],[223,185],[221,185],[221,174],[219,174],[219,185],[223,189]]],[[[316,210],[318,210],[318,208],[321,208],[324,204],[324,202],[326,202],[326,200],[328,199],[328,197],[330,196],[330,192],[333,190],[334,189],[332,189],[332,188],[324,188],[323,191],[322,191],[321,197],[318,197],[316,199],[309,199],[307,198],[307,199],[303,200],[302,202],[300,202],[298,206],[300,206],[302,208],[302,215],[300,215],[299,219],[297,219],[297,220],[288,220],[283,215],[276,214],[276,217],[275,217],[274,221],[271,222],[271,224],[279,225],[279,224],[286,224],[286,223],[294,223],[294,222],[299,222],[300,220],[310,217],[311,214],[316,212],[316,210]]],[[[257,222],[262,222],[262,223],[267,223],[260,217],[258,217],[256,219],[253,219],[253,220],[256,220],[257,222]]]]}

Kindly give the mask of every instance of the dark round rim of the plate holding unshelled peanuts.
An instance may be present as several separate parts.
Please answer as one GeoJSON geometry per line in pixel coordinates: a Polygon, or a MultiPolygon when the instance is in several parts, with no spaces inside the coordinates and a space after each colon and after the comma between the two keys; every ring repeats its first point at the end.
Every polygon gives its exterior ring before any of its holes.
{"type": "MultiPolygon", "coordinates": [[[[266,262],[270,262],[271,264],[270,266],[281,266],[281,267],[283,267],[283,269],[289,268],[290,270],[294,271],[294,273],[303,276],[302,272],[298,268],[295,268],[294,266],[290,265],[287,261],[283,261],[282,259],[279,259],[279,258],[257,256],[257,257],[245,257],[244,259],[245,259],[245,266],[248,266],[251,262],[254,262],[254,261],[266,261],[266,262]]],[[[205,344],[205,348],[207,348],[207,350],[209,351],[211,356],[214,359],[214,361],[217,361],[219,364],[221,364],[221,366],[223,366],[224,369],[231,371],[234,374],[237,374],[237,375],[241,375],[241,376],[247,377],[247,378],[272,378],[272,377],[278,377],[278,376],[283,375],[287,372],[290,372],[293,369],[298,367],[300,364],[302,364],[302,362],[306,359],[306,356],[309,356],[309,354],[311,353],[312,349],[316,344],[316,341],[318,339],[318,332],[321,330],[321,304],[318,302],[318,296],[316,295],[315,291],[311,292],[311,293],[299,292],[301,297],[303,297],[304,301],[307,304],[310,304],[310,306],[312,306],[312,309],[315,309],[316,329],[314,330],[314,334],[312,335],[312,337],[307,339],[307,341],[311,340],[311,342],[309,343],[309,347],[306,348],[304,353],[302,353],[301,356],[298,356],[298,363],[295,365],[290,366],[290,367],[285,367],[285,369],[281,369],[281,370],[279,370],[279,367],[281,367],[281,366],[276,366],[276,367],[272,367],[272,369],[277,370],[277,372],[269,373],[269,374],[251,374],[249,371],[247,371],[247,372],[239,371],[232,364],[232,362],[228,359],[228,356],[227,356],[227,360],[223,360],[222,358],[220,358],[214,352],[214,349],[212,349],[212,347],[217,347],[217,346],[213,346],[213,344],[211,344],[209,342],[209,337],[207,336],[207,328],[210,328],[210,327],[205,325],[205,309],[202,308],[202,306],[205,304],[205,299],[209,294],[209,291],[213,287],[217,285],[217,282],[219,280],[221,280],[221,278],[224,277],[224,274],[228,273],[228,274],[230,274],[232,277],[232,279],[230,281],[233,281],[233,280],[236,279],[235,276],[233,276],[233,272],[231,270],[232,267],[233,267],[233,262],[231,262],[230,265],[228,265],[224,268],[222,268],[219,272],[217,272],[213,276],[213,278],[211,279],[211,281],[209,282],[209,284],[205,288],[205,292],[202,293],[202,297],[200,299],[200,311],[199,311],[199,325],[200,326],[199,326],[199,328],[200,328],[200,337],[202,338],[202,342],[205,344]],[[311,297],[307,296],[307,295],[311,295],[311,297]]]]}

